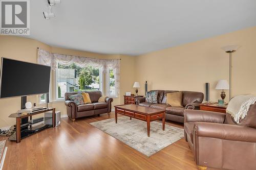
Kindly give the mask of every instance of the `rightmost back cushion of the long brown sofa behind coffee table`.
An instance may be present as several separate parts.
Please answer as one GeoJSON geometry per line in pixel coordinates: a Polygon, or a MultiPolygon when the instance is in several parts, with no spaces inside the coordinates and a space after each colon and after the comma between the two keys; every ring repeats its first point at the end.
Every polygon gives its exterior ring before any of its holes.
{"type": "Polygon", "coordinates": [[[199,102],[202,103],[204,100],[204,94],[196,91],[182,91],[183,102],[182,105],[185,107],[189,103],[199,102]]]}

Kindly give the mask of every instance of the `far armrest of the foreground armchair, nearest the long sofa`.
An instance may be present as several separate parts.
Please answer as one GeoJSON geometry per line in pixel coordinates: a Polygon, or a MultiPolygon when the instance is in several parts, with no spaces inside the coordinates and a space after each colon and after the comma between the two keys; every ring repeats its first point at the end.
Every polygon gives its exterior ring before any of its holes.
{"type": "Polygon", "coordinates": [[[226,114],[203,111],[203,110],[184,110],[184,123],[186,122],[208,122],[223,124],[226,114]]]}

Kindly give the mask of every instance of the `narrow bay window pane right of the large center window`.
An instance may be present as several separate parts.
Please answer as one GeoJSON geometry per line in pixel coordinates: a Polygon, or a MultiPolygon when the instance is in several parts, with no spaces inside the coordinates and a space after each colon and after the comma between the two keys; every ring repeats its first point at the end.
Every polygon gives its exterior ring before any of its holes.
{"type": "Polygon", "coordinates": [[[114,70],[109,69],[106,74],[106,88],[107,88],[107,94],[108,96],[117,96],[116,88],[115,88],[115,75],[114,70]]]}

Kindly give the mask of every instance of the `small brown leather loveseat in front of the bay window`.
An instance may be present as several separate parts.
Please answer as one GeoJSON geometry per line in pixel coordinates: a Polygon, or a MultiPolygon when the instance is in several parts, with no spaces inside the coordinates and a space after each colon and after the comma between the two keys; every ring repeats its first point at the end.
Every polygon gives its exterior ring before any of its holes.
{"type": "Polygon", "coordinates": [[[65,93],[65,105],[67,106],[67,114],[70,119],[75,121],[76,118],[91,116],[95,114],[108,113],[111,112],[112,98],[106,98],[105,102],[98,102],[99,98],[102,96],[101,91],[85,91],[89,93],[91,102],[90,104],[76,105],[75,102],[71,101],[68,94],[77,94],[78,92],[67,92],[65,93]]]}

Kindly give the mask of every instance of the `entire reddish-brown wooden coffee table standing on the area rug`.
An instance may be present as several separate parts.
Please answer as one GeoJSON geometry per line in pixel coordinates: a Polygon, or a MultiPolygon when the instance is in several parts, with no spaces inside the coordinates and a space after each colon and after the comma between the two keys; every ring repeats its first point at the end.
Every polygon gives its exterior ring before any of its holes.
{"type": "Polygon", "coordinates": [[[139,105],[119,105],[115,106],[115,118],[117,124],[117,113],[133,118],[143,120],[147,124],[147,136],[150,137],[150,122],[162,119],[163,131],[165,126],[165,110],[154,109],[139,105]]]}

